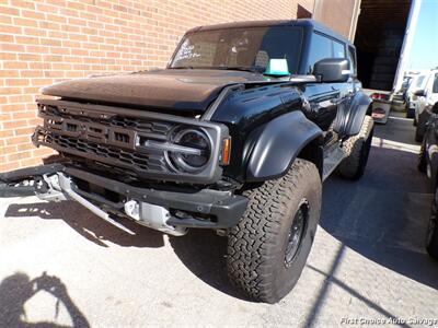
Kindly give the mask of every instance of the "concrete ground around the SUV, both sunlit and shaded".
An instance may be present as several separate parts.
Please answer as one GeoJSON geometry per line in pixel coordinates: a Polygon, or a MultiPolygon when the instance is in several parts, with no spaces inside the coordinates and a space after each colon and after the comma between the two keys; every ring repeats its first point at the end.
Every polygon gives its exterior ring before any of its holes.
{"type": "Polygon", "coordinates": [[[325,183],[308,265],[276,305],[233,291],[226,239],[210,232],[130,224],[131,237],[72,202],[2,200],[0,327],[436,324],[438,262],[423,248],[431,194],[413,136],[411,120],[391,118],[360,181],[325,183]]]}

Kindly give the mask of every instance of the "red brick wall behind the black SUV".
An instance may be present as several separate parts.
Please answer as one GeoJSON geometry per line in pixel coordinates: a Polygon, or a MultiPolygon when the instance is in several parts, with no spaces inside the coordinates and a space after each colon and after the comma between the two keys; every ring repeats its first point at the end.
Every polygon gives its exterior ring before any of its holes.
{"type": "Polygon", "coordinates": [[[31,141],[39,87],[102,71],[164,67],[193,26],[292,19],[313,0],[0,0],[0,172],[50,153],[31,141]]]}

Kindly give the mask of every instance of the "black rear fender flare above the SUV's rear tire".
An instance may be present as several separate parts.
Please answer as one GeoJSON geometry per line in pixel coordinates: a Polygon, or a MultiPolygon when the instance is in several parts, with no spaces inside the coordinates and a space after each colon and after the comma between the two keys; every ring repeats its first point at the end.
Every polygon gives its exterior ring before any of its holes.
{"type": "Polygon", "coordinates": [[[341,103],[334,121],[334,130],[342,137],[359,133],[371,102],[368,95],[359,91],[351,99],[341,103]]]}

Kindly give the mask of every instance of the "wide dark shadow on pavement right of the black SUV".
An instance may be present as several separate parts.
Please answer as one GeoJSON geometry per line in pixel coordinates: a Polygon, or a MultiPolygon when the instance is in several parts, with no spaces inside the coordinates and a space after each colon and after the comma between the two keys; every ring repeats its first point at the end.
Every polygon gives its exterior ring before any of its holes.
{"type": "Polygon", "coordinates": [[[438,289],[438,262],[424,249],[433,195],[417,154],[373,147],[359,181],[324,185],[320,225],[366,258],[438,289]]]}

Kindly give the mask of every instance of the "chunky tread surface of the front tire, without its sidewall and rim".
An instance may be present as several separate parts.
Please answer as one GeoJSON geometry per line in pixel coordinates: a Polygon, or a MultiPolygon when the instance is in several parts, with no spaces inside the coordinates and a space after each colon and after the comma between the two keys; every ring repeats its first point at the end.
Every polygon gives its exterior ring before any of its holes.
{"type": "Polygon", "coordinates": [[[267,282],[269,259],[273,258],[268,254],[276,247],[274,241],[280,234],[287,203],[300,184],[312,181],[321,185],[316,166],[297,159],[285,176],[243,192],[250,202],[239,224],[229,232],[227,266],[231,282],[249,298],[267,303],[278,301],[273,298],[272,285],[267,282]]]}

